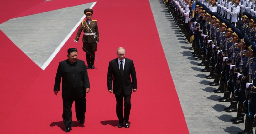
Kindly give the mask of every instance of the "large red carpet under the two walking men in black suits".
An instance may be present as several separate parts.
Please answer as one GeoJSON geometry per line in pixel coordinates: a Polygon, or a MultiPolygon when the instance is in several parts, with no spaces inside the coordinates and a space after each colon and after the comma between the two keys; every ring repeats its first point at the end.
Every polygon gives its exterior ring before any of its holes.
{"type": "MultiPolygon", "coordinates": [[[[29,9],[21,14],[9,11],[13,16],[23,16],[75,6],[68,5],[68,0],[56,1],[59,1],[57,6],[34,2],[34,7],[20,9],[29,9]],[[38,8],[42,10],[31,10],[38,8]]],[[[92,1],[76,4],[89,2],[92,1]]],[[[99,0],[93,10],[100,32],[99,63],[97,69],[88,70],[91,92],[86,96],[85,124],[76,122],[73,112],[70,133],[189,133],[149,2],[99,0]],[[117,128],[115,97],[107,92],[108,62],[117,57],[118,47],[126,49],[126,57],[133,59],[137,72],[138,91],[132,94],[129,129],[117,128]]],[[[2,22],[9,18],[5,19],[2,22]]],[[[61,92],[55,96],[53,85],[58,62],[66,59],[69,47],[77,47],[79,59],[86,60],[81,39],[80,45],[73,42],[76,32],[44,71],[0,32],[0,48],[6,50],[0,57],[1,133],[64,133],[61,92]]]]}

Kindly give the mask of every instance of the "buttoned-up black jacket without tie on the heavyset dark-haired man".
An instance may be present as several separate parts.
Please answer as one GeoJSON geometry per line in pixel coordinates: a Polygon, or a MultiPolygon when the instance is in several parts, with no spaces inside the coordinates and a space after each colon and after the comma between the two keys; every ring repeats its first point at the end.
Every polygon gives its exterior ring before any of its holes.
{"type": "Polygon", "coordinates": [[[71,64],[68,59],[61,61],[58,66],[53,90],[60,90],[61,77],[63,98],[82,97],[86,94],[85,88],[90,88],[84,61],[77,60],[74,64],[71,64]]]}

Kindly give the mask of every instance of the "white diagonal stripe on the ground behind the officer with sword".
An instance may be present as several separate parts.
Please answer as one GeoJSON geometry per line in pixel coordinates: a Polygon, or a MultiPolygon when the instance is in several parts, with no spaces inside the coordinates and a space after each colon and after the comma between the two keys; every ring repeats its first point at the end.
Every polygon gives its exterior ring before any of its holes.
{"type": "MultiPolygon", "coordinates": [[[[92,7],[94,7],[94,5],[97,2],[93,2],[93,4],[91,5],[91,9],[92,7]]],[[[84,20],[85,15],[80,19],[79,22],[77,22],[76,26],[70,31],[70,33],[65,37],[65,39],[60,43],[60,45],[55,49],[55,51],[52,53],[52,55],[47,59],[46,62],[44,62],[44,65],[41,67],[43,70],[50,64],[50,62],[53,60],[53,58],[57,55],[57,53],[60,51],[60,49],[64,46],[64,44],[67,42],[67,40],[71,37],[71,35],[73,34],[73,32],[75,32],[76,28],[80,25],[81,21],[84,20]]]]}

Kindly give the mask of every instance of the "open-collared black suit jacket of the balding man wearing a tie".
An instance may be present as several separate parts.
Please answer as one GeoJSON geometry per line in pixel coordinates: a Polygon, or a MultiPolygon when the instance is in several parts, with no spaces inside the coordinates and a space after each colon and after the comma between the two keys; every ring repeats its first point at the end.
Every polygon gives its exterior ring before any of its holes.
{"type": "Polygon", "coordinates": [[[121,76],[119,69],[118,59],[116,58],[109,62],[107,71],[107,87],[108,90],[113,89],[115,95],[120,95],[122,88],[125,95],[130,95],[132,93],[132,89],[137,89],[136,72],[132,60],[125,58],[123,77],[121,76]]]}

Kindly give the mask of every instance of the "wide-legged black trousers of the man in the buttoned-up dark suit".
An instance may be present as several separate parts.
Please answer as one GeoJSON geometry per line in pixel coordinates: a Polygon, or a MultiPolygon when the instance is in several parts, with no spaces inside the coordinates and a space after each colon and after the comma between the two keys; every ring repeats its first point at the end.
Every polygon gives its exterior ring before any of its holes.
{"type": "Polygon", "coordinates": [[[79,98],[62,98],[63,103],[63,114],[62,119],[66,127],[72,126],[72,104],[75,101],[76,107],[76,119],[77,121],[85,119],[86,111],[86,98],[85,96],[79,98]]]}

